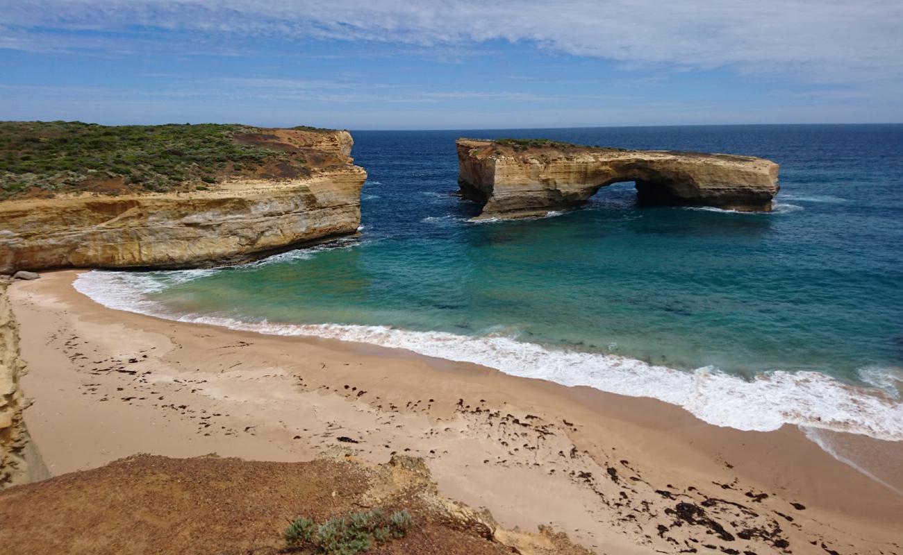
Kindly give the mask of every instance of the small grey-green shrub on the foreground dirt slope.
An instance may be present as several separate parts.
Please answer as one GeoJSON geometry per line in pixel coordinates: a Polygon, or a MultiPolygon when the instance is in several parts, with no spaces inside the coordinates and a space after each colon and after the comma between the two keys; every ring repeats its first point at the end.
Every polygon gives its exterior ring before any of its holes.
{"type": "Polygon", "coordinates": [[[380,508],[334,516],[317,526],[311,519],[300,517],[289,524],[283,534],[289,548],[312,548],[326,555],[355,555],[376,544],[404,538],[413,518],[407,509],[388,516],[380,508]]]}

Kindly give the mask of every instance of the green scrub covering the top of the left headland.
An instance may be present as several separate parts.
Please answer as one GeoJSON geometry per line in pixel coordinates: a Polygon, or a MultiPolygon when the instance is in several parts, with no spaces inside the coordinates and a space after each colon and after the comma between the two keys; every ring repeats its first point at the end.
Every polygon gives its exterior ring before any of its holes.
{"type": "MultiPolygon", "coordinates": [[[[307,131],[321,131],[299,128],[307,131]]],[[[270,165],[307,170],[303,156],[237,141],[246,125],[0,122],[0,199],[25,191],[165,191],[214,184],[270,165]]]]}

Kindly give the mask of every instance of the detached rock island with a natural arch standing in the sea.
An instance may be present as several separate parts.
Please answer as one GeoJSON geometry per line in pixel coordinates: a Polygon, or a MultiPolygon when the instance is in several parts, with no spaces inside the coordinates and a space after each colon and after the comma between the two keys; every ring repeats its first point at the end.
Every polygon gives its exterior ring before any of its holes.
{"type": "Polygon", "coordinates": [[[753,156],[630,151],[543,140],[459,139],[461,195],[479,218],[543,216],[579,207],[600,188],[635,181],[643,204],[769,211],[777,163],[753,156]]]}

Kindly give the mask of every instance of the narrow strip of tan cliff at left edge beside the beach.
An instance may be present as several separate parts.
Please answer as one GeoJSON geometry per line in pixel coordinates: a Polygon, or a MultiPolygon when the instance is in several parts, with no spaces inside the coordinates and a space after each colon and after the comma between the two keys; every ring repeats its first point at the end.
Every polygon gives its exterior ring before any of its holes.
{"type": "Polygon", "coordinates": [[[0,277],[0,489],[46,476],[41,458],[25,430],[27,402],[19,387],[25,363],[19,356],[19,329],[0,277]]]}

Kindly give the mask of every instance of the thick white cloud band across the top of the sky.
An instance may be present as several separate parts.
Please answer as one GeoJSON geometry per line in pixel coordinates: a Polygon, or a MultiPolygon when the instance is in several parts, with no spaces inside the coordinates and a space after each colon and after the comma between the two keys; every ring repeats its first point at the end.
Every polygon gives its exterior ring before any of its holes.
{"type": "Polygon", "coordinates": [[[29,43],[17,33],[30,28],[142,25],[443,49],[505,40],[654,67],[903,78],[900,0],[0,0],[0,25],[9,48],[29,43]]]}

